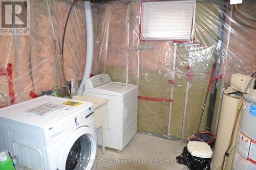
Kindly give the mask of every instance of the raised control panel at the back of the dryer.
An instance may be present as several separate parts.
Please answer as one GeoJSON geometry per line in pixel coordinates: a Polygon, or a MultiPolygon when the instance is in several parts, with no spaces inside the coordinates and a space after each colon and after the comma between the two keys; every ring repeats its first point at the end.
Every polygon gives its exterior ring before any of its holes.
{"type": "Polygon", "coordinates": [[[85,89],[98,87],[109,82],[112,82],[109,75],[96,75],[86,80],[85,89]]]}

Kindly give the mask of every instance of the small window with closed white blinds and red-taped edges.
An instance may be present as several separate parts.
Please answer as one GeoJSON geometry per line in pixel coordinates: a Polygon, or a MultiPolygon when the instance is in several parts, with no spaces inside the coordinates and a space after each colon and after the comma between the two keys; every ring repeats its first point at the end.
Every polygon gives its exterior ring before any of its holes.
{"type": "Polygon", "coordinates": [[[190,40],[194,1],[143,2],[142,40],[190,40]]]}

